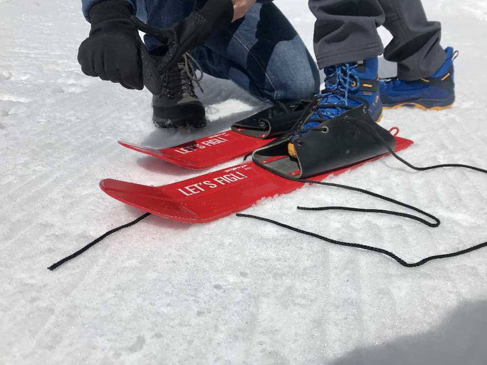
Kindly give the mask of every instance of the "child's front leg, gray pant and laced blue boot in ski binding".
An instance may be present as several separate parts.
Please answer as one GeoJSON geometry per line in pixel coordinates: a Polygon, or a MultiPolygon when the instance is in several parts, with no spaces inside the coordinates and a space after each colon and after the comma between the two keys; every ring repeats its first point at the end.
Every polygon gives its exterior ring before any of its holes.
{"type": "Polygon", "coordinates": [[[380,120],[377,56],[384,51],[377,27],[385,19],[377,0],[309,0],[316,16],[315,54],[324,68],[326,89],[321,112],[327,118],[347,107],[366,104],[370,116],[380,120]],[[331,106],[331,107],[329,107],[331,106]]]}

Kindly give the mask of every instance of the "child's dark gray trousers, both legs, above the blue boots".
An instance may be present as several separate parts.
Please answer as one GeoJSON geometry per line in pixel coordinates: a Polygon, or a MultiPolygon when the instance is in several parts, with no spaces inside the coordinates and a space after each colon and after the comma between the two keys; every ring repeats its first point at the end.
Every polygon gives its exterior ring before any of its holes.
{"type": "Polygon", "coordinates": [[[381,55],[381,25],[393,35],[384,57],[397,63],[400,79],[430,77],[445,62],[441,23],[428,21],[421,0],[309,0],[309,8],[320,69],[381,55]]]}

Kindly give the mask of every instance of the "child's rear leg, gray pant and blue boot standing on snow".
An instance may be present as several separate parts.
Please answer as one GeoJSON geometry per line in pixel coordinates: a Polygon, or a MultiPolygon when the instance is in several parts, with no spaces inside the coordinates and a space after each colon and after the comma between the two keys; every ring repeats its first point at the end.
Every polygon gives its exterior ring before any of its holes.
{"type": "Polygon", "coordinates": [[[379,0],[393,34],[385,58],[397,62],[397,78],[379,83],[386,108],[442,110],[455,101],[451,47],[440,45],[441,24],[428,21],[420,0],[379,0]]]}

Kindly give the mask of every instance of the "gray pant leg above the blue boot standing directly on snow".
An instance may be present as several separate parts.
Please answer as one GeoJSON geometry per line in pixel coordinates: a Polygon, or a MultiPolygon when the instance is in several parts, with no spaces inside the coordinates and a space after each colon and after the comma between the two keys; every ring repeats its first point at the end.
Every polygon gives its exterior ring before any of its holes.
{"type": "Polygon", "coordinates": [[[441,23],[428,21],[421,0],[378,0],[386,15],[384,26],[393,40],[384,57],[397,62],[397,77],[411,81],[430,77],[445,62],[440,46],[441,23]]]}

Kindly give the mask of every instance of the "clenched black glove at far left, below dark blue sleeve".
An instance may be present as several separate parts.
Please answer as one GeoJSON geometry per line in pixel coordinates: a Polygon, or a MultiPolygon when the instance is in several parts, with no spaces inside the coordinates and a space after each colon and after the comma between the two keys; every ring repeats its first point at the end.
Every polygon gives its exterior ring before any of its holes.
{"type": "Polygon", "coordinates": [[[83,73],[120,83],[127,89],[161,93],[156,65],[131,21],[132,8],[124,0],[106,0],[90,9],[91,31],[79,46],[83,73]]]}

